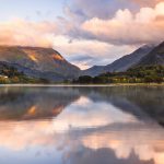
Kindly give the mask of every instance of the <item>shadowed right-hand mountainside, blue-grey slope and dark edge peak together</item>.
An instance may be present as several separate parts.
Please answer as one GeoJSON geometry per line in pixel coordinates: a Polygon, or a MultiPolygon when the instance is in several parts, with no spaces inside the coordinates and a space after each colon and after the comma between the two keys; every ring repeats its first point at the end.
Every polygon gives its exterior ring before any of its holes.
{"type": "Polygon", "coordinates": [[[94,66],[82,71],[82,75],[96,77],[105,72],[124,72],[138,66],[164,65],[164,43],[159,46],[143,46],[130,55],[107,66],[94,66]]]}

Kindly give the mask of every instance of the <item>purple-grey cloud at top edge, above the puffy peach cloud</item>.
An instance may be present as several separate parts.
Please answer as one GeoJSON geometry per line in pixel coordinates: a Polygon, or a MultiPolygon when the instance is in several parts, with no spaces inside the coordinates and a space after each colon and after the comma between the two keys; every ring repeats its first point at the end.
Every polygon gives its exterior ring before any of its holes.
{"type": "Polygon", "coordinates": [[[118,8],[126,8],[126,3],[120,0],[71,0],[66,7],[66,12],[69,13],[72,19],[91,19],[93,16],[107,19],[118,8]]]}

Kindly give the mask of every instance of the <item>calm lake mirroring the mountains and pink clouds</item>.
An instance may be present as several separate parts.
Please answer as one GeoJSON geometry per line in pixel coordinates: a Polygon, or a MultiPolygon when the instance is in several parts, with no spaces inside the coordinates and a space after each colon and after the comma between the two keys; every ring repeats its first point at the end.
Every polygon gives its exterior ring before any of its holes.
{"type": "Polygon", "coordinates": [[[1,86],[1,164],[164,164],[164,86],[1,86]]]}

